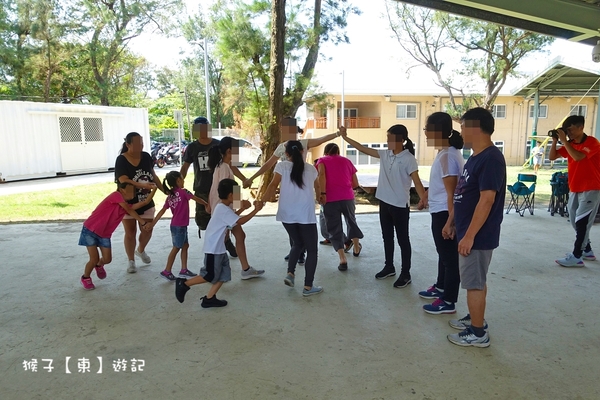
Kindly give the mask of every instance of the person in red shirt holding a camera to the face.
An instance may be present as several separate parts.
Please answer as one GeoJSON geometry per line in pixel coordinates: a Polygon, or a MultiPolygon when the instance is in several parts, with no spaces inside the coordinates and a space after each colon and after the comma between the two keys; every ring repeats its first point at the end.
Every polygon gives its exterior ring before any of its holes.
{"type": "Polygon", "coordinates": [[[596,259],[590,245],[590,229],[600,204],[600,142],[583,132],[585,118],[571,115],[562,128],[550,131],[550,160],[567,159],[569,172],[569,203],[567,209],[575,229],[573,252],[556,260],[563,267],[584,267],[583,260],[596,259]],[[568,139],[567,139],[568,137],[568,139]],[[564,145],[556,147],[558,141],[564,145]]]}

